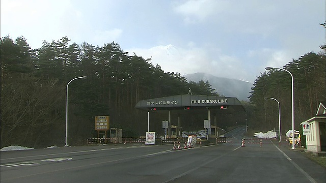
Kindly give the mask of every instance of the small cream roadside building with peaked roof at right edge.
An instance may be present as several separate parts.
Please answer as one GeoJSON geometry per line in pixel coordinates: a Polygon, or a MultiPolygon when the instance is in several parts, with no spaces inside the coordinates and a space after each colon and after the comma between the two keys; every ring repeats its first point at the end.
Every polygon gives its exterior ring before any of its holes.
{"type": "Polygon", "coordinates": [[[326,151],[326,108],[320,103],[317,113],[301,123],[303,135],[306,135],[307,150],[319,154],[326,151]]]}

